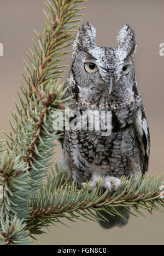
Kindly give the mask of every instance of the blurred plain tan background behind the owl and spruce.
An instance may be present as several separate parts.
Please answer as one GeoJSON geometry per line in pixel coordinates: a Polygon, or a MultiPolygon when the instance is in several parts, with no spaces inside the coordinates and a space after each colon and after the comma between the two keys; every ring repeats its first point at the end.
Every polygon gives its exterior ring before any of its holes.
{"type": "MultiPolygon", "coordinates": [[[[164,42],[163,0],[89,0],[85,6],[84,21],[90,21],[97,29],[98,45],[116,45],[118,31],[126,23],[136,32],[138,43],[135,55],[136,77],[147,114],[151,135],[151,157],[149,172],[163,172],[164,157],[164,56],[160,56],[159,45],[164,42]]],[[[8,119],[10,109],[17,102],[19,76],[27,60],[26,51],[32,47],[33,32],[43,32],[46,9],[42,0],[0,0],[0,43],[4,56],[0,56],[0,130],[10,132],[8,119]]],[[[43,35],[43,34],[42,34],[43,35]]],[[[70,58],[67,64],[70,65],[70,58]]],[[[69,67],[65,73],[68,75],[69,67]]],[[[55,159],[60,159],[57,149],[55,159]]],[[[50,226],[47,235],[36,236],[33,244],[164,244],[164,214],[154,212],[147,217],[131,217],[124,229],[103,230],[96,222],[72,223],[71,228],[58,224],[50,226]]]]}

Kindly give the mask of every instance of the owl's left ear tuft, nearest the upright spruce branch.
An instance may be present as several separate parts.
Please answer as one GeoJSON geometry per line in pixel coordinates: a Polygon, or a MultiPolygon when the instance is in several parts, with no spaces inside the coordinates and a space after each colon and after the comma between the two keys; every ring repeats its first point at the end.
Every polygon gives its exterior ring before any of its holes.
{"type": "Polygon", "coordinates": [[[74,50],[87,50],[95,46],[96,29],[90,22],[84,23],[73,41],[74,50]]]}

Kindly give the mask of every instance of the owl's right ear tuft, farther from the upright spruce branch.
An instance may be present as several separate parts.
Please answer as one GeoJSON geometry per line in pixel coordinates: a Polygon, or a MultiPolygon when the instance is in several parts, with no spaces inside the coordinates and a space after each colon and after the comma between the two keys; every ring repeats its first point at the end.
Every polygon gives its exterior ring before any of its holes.
{"type": "Polygon", "coordinates": [[[136,52],[137,44],[133,29],[126,24],[119,32],[118,35],[119,48],[122,48],[127,54],[133,55],[136,52]]]}

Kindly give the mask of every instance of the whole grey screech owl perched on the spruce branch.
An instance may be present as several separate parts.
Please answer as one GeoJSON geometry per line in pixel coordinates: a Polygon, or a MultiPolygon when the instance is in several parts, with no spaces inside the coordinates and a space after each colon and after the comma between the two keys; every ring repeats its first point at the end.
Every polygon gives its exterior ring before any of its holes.
{"type": "MultiPolygon", "coordinates": [[[[115,190],[122,175],[137,178],[148,170],[150,138],[137,82],[133,54],[137,48],[134,31],[125,25],[119,32],[118,47],[99,47],[96,30],[86,22],[73,42],[73,61],[65,88],[67,103],[80,113],[89,110],[112,111],[112,133],[101,130],[69,129],[62,139],[62,167],[79,187],[90,180],[90,189],[104,177],[104,189],[115,190]]],[[[113,217],[101,212],[109,222],[105,227],[124,226],[129,214],[113,217]]]]}

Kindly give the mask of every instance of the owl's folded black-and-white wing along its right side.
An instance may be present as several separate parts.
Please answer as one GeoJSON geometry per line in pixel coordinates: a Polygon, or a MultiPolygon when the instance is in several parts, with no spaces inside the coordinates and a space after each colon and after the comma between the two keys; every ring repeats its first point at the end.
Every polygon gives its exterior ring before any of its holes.
{"type": "Polygon", "coordinates": [[[136,129],[136,139],[140,150],[140,166],[142,168],[142,173],[144,174],[147,172],[149,164],[150,134],[143,106],[142,109],[138,111],[137,118],[134,121],[134,127],[136,129]]]}

